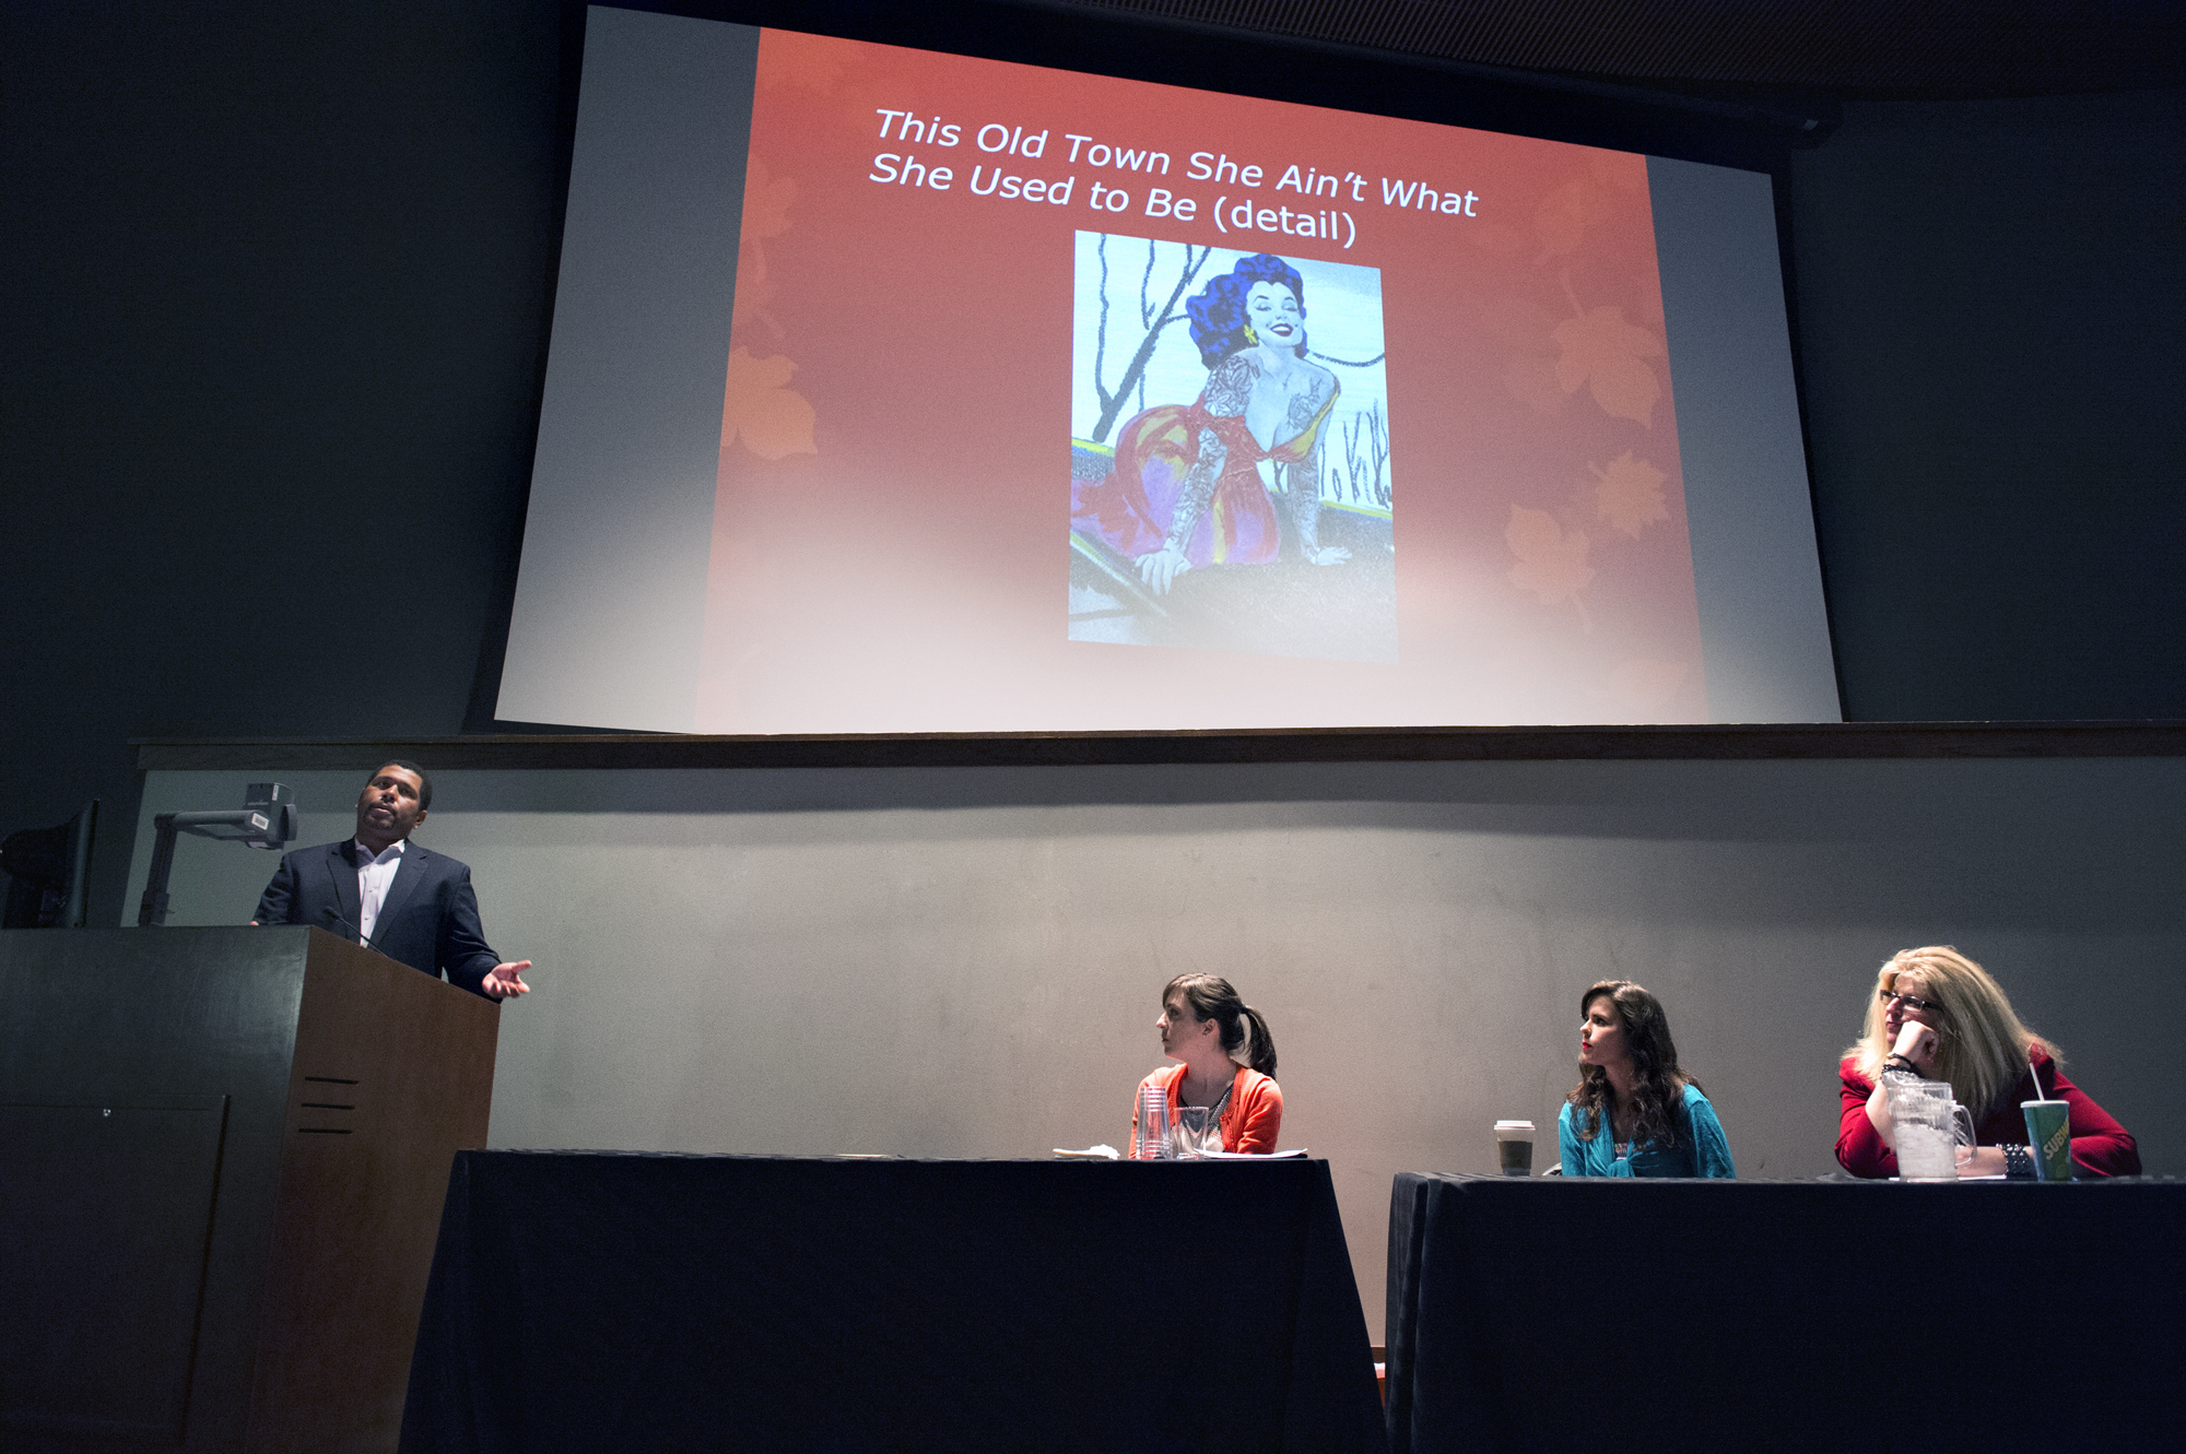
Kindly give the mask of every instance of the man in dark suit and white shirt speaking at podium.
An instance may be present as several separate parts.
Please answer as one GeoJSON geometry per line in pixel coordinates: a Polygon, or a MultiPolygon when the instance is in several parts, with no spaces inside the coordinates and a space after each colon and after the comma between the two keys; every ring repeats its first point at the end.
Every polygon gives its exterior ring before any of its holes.
{"type": "Polygon", "coordinates": [[[315,923],[487,1000],[531,993],[531,961],[485,943],[470,867],[409,841],[431,806],[422,766],[383,764],[356,795],[356,836],[284,854],[251,923],[315,923]]]}

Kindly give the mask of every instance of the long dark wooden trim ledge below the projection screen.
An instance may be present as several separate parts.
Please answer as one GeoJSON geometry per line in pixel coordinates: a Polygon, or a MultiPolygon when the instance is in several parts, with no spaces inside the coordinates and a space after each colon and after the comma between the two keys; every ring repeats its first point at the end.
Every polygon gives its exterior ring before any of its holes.
{"type": "Polygon", "coordinates": [[[142,771],[1100,766],[1159,762],[1753,762],[1803,758],[2182,758],[2186,720],[1771,723],[1688,727],[1303,727],[898,736],[501,734],[131,738],[142,771]]]}

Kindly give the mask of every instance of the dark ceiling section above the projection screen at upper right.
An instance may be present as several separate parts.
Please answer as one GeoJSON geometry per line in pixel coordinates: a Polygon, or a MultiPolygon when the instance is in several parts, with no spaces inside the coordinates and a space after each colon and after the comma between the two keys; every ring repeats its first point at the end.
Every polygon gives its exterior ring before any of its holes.
{"type": "Polygon", "coordinates": [[[1060,0],[1436,61],[1836,96],[2186,83],[2186,0],[1060,0]]]}

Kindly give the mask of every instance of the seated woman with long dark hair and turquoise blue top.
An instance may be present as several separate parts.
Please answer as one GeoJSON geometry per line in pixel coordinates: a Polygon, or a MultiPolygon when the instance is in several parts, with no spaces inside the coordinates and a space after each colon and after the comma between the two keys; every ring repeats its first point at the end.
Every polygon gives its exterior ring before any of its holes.
{"type": "Polygon", "coordinates": [[[1736,1177],[1716,1107],[1677,1063],[1661,1000],[1602,980],[1578,1004],[1578,1089],[1556,1116],[1563,1175],[1736,1177]]]}

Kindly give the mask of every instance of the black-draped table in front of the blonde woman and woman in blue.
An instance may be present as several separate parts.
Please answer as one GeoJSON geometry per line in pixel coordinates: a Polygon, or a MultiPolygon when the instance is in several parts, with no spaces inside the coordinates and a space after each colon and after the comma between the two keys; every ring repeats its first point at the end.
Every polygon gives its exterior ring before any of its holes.
{"type": "Polygon", "coordinates": [[[2182,1316],[2169,1179],[1408,1172],[1390,1450],[2177,1450],[2182,1316]]]}

